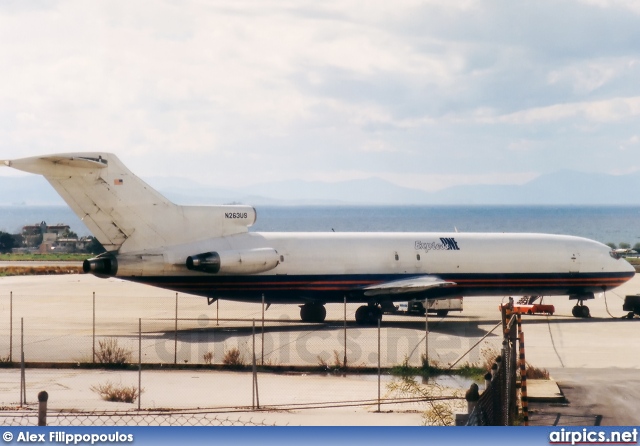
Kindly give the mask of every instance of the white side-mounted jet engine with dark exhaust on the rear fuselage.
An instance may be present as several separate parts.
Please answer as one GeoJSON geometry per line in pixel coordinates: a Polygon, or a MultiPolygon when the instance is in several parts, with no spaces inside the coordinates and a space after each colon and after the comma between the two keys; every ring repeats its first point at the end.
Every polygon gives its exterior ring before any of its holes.
{"type": "Polygon", "coordinates": [[[272,270],[280,263],[272,248],[242,251],[205,252],[187,258],[187,268],[210,274],[257,274],[272,270]]]}

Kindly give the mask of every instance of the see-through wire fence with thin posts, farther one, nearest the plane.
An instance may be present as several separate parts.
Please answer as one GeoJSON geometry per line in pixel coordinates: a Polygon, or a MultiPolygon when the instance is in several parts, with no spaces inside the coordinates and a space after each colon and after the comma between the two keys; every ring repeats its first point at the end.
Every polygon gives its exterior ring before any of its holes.
{"type": "Polygon", "coordinates": [[[70,300],[0,295],[0,361],[19,362],[24,351],[28,363],[94,363],[107,339],[130,353],[129,362],[137,363],[141,356],[142,364],[222,365],[231,350],[237,351],[239,361],[250,364],[254,345],[257,364],[274,367],[387,368],[421,366],[424,359],[447,366],[462,356],[461,364],[482,359],[480,349],[471,347],[484,332],[452,316],[431,315],[427,320],[385,315],[378,334],[376,327],[353,322],[359,306],[355,304],[346,305],[346,321],[340,314],[342,305],[333,304],[327,307],[334,307],[338,317],[310,324],[300,322],[295,305],[279,305],[263,318],[259,304],[223,302],[207,307],[203,299],[192,296],[148,296],[136,308],[123,303],[122,296],[94,294],[70,300]],[[140,307],[141,317],[135,317],[140,307]],[[211,317],[214,309],[218,314],[211,317]]]}

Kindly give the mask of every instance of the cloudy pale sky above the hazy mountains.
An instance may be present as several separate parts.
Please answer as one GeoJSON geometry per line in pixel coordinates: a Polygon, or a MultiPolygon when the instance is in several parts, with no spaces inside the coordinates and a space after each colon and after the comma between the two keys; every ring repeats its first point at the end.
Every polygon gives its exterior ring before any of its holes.
{"type": "Polygon", "coordinates": [[[429,191],[640,170],[636,0],[3,0],[0,39],[2,159],[429,191]]]}

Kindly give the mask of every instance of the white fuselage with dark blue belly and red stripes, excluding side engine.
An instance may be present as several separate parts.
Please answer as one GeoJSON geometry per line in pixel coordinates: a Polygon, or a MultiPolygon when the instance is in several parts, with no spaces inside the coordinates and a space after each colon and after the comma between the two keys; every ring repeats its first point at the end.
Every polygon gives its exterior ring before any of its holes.
{"type": "MultiPolygon", "coordinates": [[[[118,276],[207,296],[267,301],[352,301],[376,284],[424,275],[455,282],[416,297],[600,292],[635,273],[601,243],[572,236],[505,233],[246,233],[163,248],[129,263],[118,276]],[[274,268],[258,274],[189,271],[201,252],[272,248],[274,268]],[[156,255],[154,255],[156,254],[156,255]],[[155,261],[151,261],[155,259],[155,261]],[[130,265],[130,267],[128,266],[130,265]]],[[[406,300],[398,297],[397,300],[406,300]]]]}

